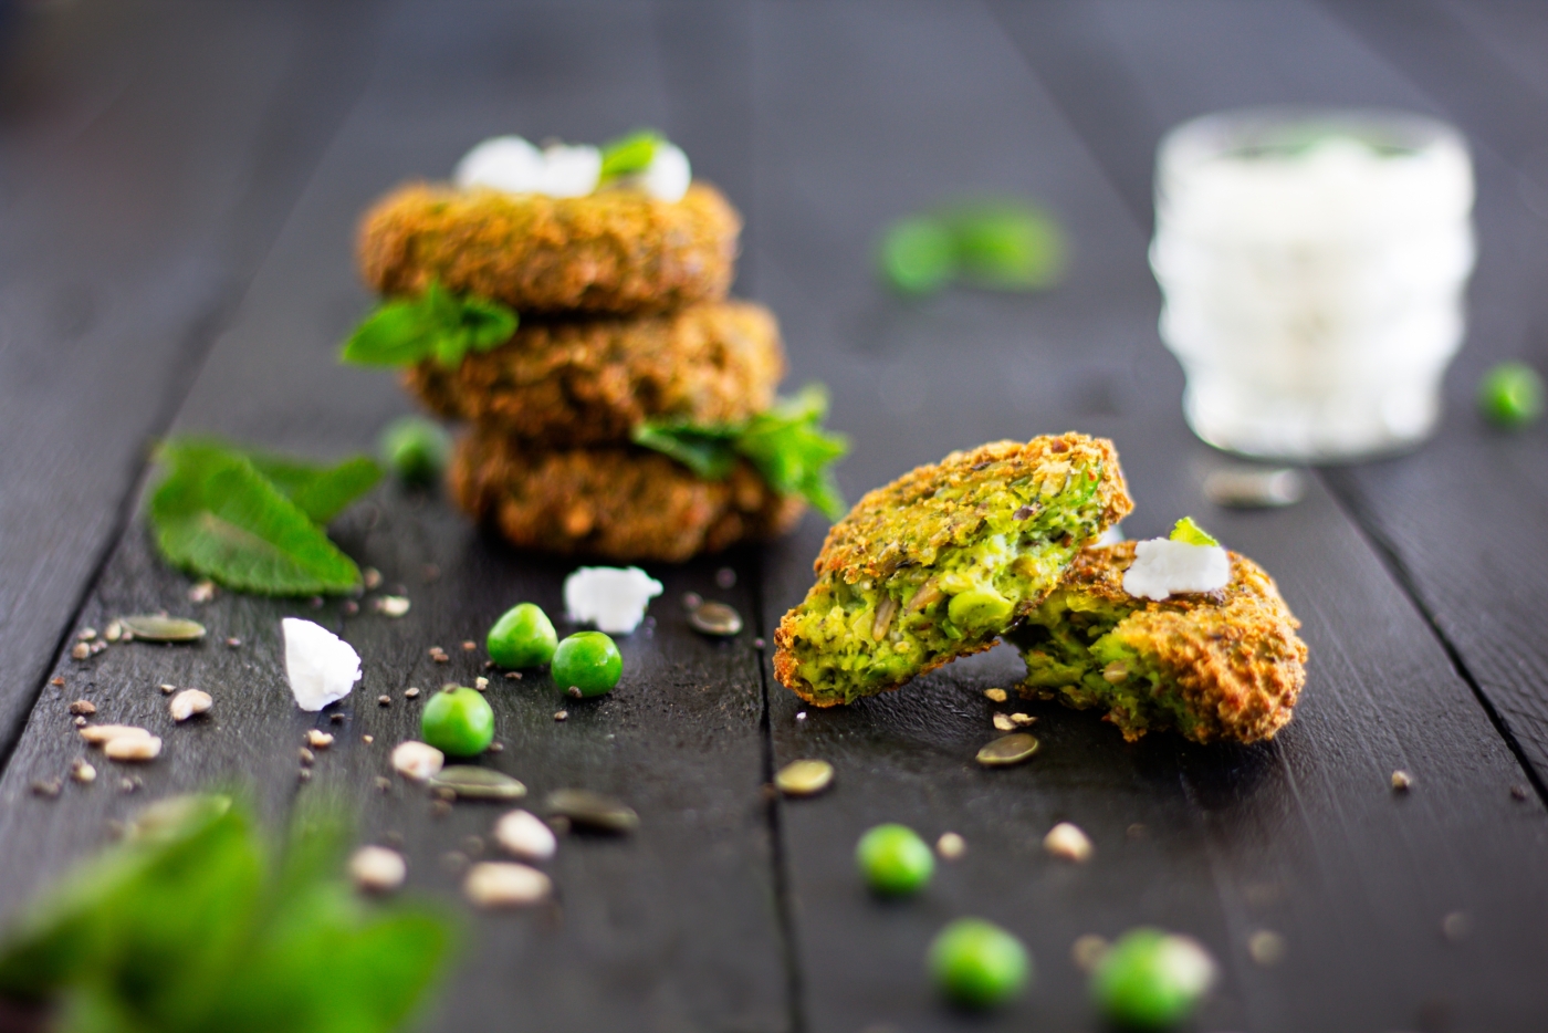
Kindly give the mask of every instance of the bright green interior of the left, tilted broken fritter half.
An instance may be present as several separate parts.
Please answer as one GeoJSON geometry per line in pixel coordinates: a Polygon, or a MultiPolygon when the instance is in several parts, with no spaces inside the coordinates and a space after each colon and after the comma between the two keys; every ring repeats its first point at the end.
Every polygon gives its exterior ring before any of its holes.
{"type": "Polygon", "coordinates": [[[943,547],[930,565],[854,584],[834,575],[819,581],[797,612],[794,641],[813,697],[848,703],[890,689],[1005,632],[1104,530],[1101,468],[1096,477],[1088,472],[1008,483],[977,505],[971,544],[943,547]]]}

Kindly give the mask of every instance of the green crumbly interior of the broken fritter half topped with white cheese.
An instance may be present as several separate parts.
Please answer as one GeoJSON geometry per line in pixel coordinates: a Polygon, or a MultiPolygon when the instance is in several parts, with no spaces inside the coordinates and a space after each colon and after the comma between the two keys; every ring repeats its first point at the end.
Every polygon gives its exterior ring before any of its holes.
{"type": "Polygon", "coordinates": [[[1138,609],[1071,589],[1059,589],[1006,638],[1026,661],[1026,689],[1076,708],[1101,706],[1124,731],[1178,728],[1197,717],[1153,657],[1113,635],[1138,609]]]}

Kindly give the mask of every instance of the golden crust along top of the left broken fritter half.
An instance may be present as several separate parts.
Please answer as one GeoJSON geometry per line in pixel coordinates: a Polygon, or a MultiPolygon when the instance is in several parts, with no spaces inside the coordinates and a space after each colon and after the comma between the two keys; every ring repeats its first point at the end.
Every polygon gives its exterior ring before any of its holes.
{"type": "Polygon", "coordinates": [[[1006,483],[1065,477],[1074,466],[1091,465],[1102,468],[1098,500],[1102,527],[1111,527],[1135,508],[1111,441],[1073,432],[1025,443],[991,441],[952,452],[867,492],[828,528],[813,570],[817,578],[837,575],[853,584],[861,578],[887,578],[902,565],[929,567],[941,548],[963,544],[978,530],[983,500],[1002,492],[1006,483]]]}

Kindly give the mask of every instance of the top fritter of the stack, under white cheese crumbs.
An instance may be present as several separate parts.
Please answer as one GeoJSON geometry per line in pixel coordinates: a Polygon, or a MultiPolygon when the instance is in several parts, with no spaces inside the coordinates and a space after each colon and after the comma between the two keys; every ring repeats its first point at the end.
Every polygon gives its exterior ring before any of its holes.
{"type": "Polygon", "coordinates": [[[420,294],[438,279],[522,316],[636,314],[724,297],[738,232],[741,217],[706,183],[680,201],[410,183],[365,214],[359,260],[381,294],[420,294]]]}

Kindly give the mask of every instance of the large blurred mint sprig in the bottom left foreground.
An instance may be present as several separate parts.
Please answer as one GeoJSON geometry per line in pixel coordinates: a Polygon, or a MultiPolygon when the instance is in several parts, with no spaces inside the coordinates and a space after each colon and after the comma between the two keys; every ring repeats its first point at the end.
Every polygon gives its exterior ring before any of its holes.
{"type": "Polygon", "coordinates": [[[152,804],[11,926],[0,997],[53,1005],[57,1033],[398,1030],[455,926],[362,901],[341,878],[345,844],[314,815],[276,856],[228,796],[152,804]]]}

